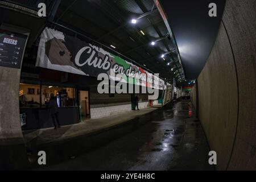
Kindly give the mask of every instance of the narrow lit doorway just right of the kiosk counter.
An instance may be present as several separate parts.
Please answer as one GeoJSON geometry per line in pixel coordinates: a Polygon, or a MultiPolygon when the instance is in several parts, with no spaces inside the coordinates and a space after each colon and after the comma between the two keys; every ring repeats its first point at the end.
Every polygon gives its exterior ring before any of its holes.
{"type": "Polygon", "coordinates": [[[79,104],[81,106],[82,120],[90,118],[89,91],[79,91],[79,104]]]}

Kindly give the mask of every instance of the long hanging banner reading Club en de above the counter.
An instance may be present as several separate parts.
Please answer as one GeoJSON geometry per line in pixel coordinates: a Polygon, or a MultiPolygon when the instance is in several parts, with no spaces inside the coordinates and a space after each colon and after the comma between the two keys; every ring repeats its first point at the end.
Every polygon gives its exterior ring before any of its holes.
{"type": "Polygon", "coordinates": [[[101,73],[110,77],[110,70],[113,69],[115,74],[126,76],[122,77],[124,82],[161,90],[164,88],[162,79],[129,61],[51,28],[45,28],[40,37],[36,67],[92,77],[101,73]]]}

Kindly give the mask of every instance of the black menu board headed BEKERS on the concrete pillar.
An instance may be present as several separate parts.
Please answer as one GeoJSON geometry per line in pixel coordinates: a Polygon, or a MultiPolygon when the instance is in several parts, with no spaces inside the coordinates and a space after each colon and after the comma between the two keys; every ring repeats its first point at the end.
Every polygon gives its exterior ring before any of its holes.
{"type": "Polygon", "coordinates": [[[0,67],[20,69],[27,36],[0,29],[0,67]]]}

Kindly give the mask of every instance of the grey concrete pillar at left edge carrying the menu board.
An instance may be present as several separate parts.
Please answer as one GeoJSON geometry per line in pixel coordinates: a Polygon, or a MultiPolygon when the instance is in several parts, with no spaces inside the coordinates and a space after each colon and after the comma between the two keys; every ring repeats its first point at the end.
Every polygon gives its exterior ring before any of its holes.
{"type": "MultiPolygon", "coordinates": [[[[3,25],[24,35],[28,31],[3,25]]],[[[15,170],[28,167],[26,147],[19,122],[20,69],[0,67],[0,170],[15,170]]]]}

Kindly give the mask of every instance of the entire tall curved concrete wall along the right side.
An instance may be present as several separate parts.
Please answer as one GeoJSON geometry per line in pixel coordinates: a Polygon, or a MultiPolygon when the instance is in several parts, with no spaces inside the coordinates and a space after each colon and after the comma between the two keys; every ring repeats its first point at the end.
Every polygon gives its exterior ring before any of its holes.
{"type": "MultiPolygon", "coordinates": [[[[256,169],[256,1],[228,0],[216,42],[197,78],[199,119],[217,169],[256,169]]],[[[196,106],[196,89],[192,102],[196,106]]]]}

